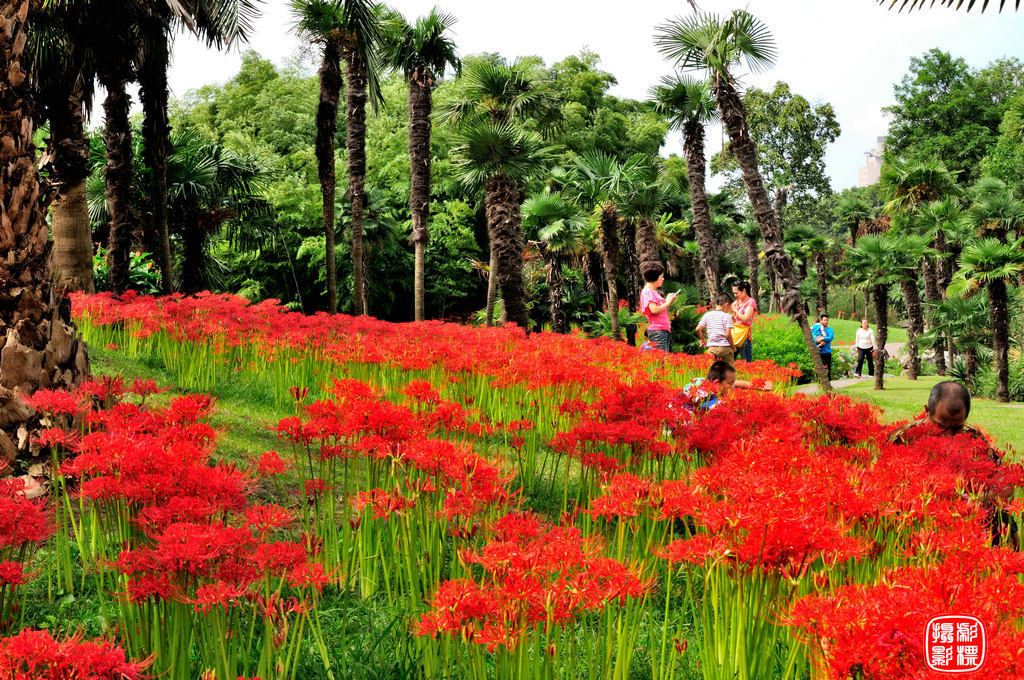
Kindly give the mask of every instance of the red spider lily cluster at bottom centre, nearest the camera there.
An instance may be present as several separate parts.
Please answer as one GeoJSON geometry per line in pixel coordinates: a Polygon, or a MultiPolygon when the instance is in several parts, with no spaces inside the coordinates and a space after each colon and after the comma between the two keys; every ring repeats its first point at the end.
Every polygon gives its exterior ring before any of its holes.
{"type": "Polygon", "coordinates": [[[584,611],[624,604],[650,587],[627,565],[602,556],[597,540],[529,513],[499,519],[483,548],[463,559],[482,567],[483,578],[442,583],[419,621],[419,635],[455,635],[490,651],[512,649],[535,627],[564,625],[584,611]]]}

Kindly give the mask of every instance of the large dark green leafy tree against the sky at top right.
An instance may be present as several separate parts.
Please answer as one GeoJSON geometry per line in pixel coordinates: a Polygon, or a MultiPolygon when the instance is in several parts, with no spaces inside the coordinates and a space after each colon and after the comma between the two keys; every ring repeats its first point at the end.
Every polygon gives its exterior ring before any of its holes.
{"type": "Polygon", "coordinates": [[[1022,81],[1024,67],[1017,59],[973,70],[938,48],[913,57],[894,88],[896,103],[886,109],[891,119],[886,161],[932,160],[962,181],[974,181],[1022,81]]]}

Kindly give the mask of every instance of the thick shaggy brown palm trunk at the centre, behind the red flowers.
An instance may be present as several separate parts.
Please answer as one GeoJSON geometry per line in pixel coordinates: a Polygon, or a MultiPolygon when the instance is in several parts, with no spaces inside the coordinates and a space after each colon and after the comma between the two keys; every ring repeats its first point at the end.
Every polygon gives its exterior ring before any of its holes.
{"type": "Polygon", "coordinates": [[[507,175],[490,177],[486,181],[484,201],[505,317],[528,333],[529,315],[522,280],[523,238],[519,221],[522,201],[519,187],[507,175]]]}

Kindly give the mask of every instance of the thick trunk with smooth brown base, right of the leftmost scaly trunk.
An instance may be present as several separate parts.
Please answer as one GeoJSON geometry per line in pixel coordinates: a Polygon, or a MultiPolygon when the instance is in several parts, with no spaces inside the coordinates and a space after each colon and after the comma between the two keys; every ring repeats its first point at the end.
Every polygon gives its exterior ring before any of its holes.
{"type": "Polygon", "coordinates": [[[85,182],[89,177],[89,141],[85,137],[82,90],[72,85],[51,102],[50,138],[57,194],[53,201],[53,284],[58,290],[95,292],[92,278],[92,228],[85,182]]]}

